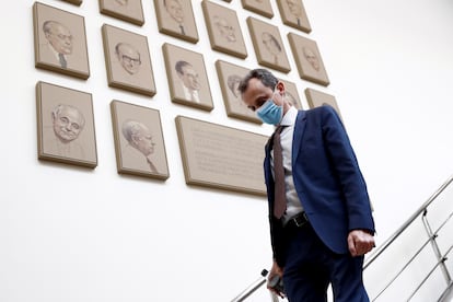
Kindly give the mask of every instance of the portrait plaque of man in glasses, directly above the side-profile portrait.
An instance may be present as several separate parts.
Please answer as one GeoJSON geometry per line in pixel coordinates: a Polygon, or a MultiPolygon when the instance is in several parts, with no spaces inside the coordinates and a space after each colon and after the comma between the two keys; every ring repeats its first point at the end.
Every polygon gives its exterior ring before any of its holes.
{"type": "Polygon", "coordinates": [[[155,94],[148,38],[104,24],[105,65],[108,85],[140,94],[155,94]]]}

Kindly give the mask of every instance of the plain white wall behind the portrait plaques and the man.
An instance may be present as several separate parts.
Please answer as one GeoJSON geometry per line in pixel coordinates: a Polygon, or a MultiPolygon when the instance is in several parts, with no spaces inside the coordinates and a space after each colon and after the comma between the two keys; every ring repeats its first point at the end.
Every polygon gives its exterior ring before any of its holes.
{"type": "MultiPolygon", "coordinates": [[[[200,1],[193,1],[196,45],[159,34],[154,4],[143,1],[142,27],[81,7],[42,0],[85,18],[91,77],[77,80],[34,68],[32,5],[10,1],[1,15],[3,143],[0,155],[0,301],[230,301],[270,265],[264,198],[185,184],[174,117],[268,135],[270,127],[228,118],[213,63],[257,67],[241,1],[237,10],[248,57],[210,49],[200,1]],[[107,88],[101,26],[149,37],[158,94],[144,97],[107,88]],[[202,53],[214,109],[172,104],[162,44],[202,53]],[[57,83],[93,94],[98,166],[91,171],[38,162],[35,84],[57,83]],[[169,156],[166,182],[116,172],[109,102],[161,112],[169,156]],[[71,194],[67,194],[71,191],[71,194]],[[201,210],[204,214],[196,214],[201,210]]],[[[449,0],[305,0],[332,84],[300,80],[294,61],[282,79],[336,96],[375,207],[378,242],[388,237],[453,172],[451,94],[453,3],[449,0]]],[[[280,26],[282,37],[294,32],[280,26]]],[[[301,33],[304,35],[303,33],[301,33]]],[[[288,55],[289,44],[284,39],[288,55]]],[[[251,301],[267,301],[265,290],[251,301]]]]}

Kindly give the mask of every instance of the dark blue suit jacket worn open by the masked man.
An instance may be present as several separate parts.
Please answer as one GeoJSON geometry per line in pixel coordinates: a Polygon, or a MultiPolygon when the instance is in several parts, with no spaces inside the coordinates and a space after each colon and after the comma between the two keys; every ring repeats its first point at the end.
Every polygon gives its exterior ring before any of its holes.
{"type": "MultiPolygon", "coordinates": [[[[282,264],[282,226],[272,216],[270,148],[264,163],[274,257],[282,264]]],[[[374,234],[367,185],[349,138],[335,109],[300,111],[292,142],[292,174],[299,199],[316,234],[334,253],[349,253],[351,230],[374,234]]]]}

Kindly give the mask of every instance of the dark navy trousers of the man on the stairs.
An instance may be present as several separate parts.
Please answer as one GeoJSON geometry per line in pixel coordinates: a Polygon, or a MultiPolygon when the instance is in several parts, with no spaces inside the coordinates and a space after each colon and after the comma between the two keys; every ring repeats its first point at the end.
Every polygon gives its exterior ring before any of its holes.
{"type": "Polygon", "coordinates": [[[368,302],[362,266],[363,256],[333,253],[310,224],[287,230],[283,284],[290,302],[327,301],[329,283],[336,302],[368,302]]]}

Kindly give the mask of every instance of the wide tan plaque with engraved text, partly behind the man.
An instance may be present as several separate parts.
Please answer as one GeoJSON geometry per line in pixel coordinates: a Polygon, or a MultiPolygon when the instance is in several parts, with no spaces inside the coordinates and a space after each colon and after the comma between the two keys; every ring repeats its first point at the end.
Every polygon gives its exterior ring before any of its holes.
{"type": "Polygon", "coordinates": [[[266,195],[268,137],[184,116],[175,120],[187,185],[266,195]]]}

